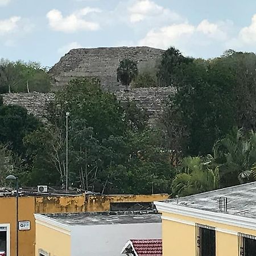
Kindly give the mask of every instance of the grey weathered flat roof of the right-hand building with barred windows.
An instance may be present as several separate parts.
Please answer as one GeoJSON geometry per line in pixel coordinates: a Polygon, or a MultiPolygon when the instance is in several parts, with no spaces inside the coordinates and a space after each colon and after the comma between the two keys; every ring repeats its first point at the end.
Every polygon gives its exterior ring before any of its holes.
{"type": "MultiPolygon", "coordinates": [[[[220,212],[218,205],[220,197],[227,197],[228,200],[228,211],[224,213],[256,218],[256,182],[180,197],[178,205],[220,212]]],[[[177,204],[177,199],[170,199],[165,202],[177,204]]]]}

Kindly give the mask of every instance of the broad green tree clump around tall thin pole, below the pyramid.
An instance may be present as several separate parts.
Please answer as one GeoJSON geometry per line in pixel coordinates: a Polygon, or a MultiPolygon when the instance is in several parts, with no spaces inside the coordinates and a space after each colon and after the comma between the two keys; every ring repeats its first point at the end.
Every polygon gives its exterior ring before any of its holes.
{"type": "Polygon", "coordinates": [[[147,130],[146,116],[133,102],[121,105],[102,92],[94,79],[71,81],[49,105],[48,125],[25,138],[32,184],[65,180],[67,111],[71,185],[101,193],[170,191],[175,175],[170,153],[158,134],[147,130]]]}

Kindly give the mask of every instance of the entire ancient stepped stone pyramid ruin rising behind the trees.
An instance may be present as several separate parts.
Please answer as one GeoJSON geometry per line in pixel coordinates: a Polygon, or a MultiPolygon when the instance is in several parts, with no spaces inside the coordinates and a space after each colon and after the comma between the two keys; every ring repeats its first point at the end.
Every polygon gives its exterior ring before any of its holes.
{"type": "MultiPolygon", "coordinates": [[[[102,89],[113,92],[123,102],[135,101],[146,110],[150,122],[155,122],[162,112],[163,100],[175,93],[175,88],[133,88],[123,92],[117,82],[119,61],[128,58],[137,61],[139,71],[155,68],[164,51],[150,47],[115,47],[94,49],[72,49],[55,64],[49,74],[53,80],[53,90],[61,88],[76,77],[98,77],[102,89]]],[[[46,113],[46,104],[54,98],[54,93],[10,93],[3,94],[5,104],[16,104],[27,108],[40,118],[46,113]]]]}

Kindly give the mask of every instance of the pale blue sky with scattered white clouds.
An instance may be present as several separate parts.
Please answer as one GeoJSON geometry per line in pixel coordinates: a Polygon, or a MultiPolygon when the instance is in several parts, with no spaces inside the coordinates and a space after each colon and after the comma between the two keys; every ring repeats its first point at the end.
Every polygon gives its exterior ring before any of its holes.
{"type": "Polygon", "coordinates": [[[51,67],[72,48],[256,52],[255,0],[0,0],[0,59],[51,67]]]}

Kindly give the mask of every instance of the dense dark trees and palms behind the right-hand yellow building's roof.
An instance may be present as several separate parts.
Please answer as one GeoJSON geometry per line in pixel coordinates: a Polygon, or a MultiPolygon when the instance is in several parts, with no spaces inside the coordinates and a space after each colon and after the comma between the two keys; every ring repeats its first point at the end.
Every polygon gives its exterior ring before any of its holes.
{"type": "Polygon", "coordinates": [[[159,77],[177,88],[161,118],[181,159],[175,195],[254,180],[255,70],[254,53],[229,50],[211,60],[185,58],[174,48],[164,54],[159,77]]]}

